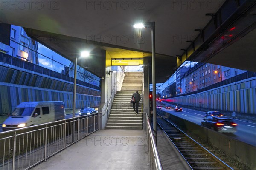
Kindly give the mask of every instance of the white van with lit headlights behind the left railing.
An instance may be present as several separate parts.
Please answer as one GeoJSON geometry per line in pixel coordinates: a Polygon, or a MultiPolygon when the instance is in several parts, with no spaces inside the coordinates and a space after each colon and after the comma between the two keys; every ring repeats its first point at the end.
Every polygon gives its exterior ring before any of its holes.
{"type": "Polygon", "coordinates": [[[63,102],[22,102],[3,122],[3,130],[13,130],[65,119],[63,102]]]}

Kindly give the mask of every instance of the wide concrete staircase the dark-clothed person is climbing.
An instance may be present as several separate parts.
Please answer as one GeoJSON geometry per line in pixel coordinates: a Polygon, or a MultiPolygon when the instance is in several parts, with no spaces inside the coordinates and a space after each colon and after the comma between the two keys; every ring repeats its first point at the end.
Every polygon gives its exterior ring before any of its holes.
{"type": "Polygon", "coordinates": [[[142,78],[143,72],[127,72],[122,83],[121,91],[116,92],[106,129],[142,129],[142,78]],[[139,91],[139,114],[132,108],[131,96],[139,91]]]}

